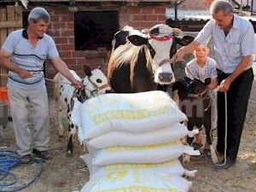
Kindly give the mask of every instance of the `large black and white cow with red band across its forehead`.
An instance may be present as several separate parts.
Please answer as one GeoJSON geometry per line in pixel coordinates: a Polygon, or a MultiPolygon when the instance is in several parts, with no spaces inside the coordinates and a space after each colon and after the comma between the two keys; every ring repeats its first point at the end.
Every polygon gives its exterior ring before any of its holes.
{"type": "Polygon", "coordinates": [[[177,79],[172,71],[172,55],[177,44],[187,45],[194,38],[165,24],[140,32],[125,26],[114,35],[108,63],[108,79],[115,92],[136,93],[164,90],[177,79]],[[160,89],[159,89],[160,88],[160,89]]]}

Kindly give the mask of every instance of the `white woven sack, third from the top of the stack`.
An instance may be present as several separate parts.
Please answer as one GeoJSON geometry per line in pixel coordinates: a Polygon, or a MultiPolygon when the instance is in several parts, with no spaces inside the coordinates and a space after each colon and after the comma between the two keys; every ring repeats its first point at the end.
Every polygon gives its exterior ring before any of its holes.
{"type": "Polygon", "coordinates": [[[90,148],[92,165],[106,166],[118,163],[163,163],[177,159],[181,154],[200,155],[198,150],[180,141],[141,147],[90,148]]]}

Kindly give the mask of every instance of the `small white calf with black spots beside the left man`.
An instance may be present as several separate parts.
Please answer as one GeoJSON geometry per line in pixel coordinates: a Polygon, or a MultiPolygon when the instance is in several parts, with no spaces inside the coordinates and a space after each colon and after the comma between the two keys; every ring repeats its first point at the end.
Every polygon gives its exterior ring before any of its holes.
{"type": "Polygon", "coordinates": [[[75,90],[75,88],[71,85],[70,81],[68,81],[61,73],[57,73],[55,75],[55,88],[54,88],[54,98],[56,103],[56,113],[57,120],[59,123],[59,136],[63,136],[64,128],[61,123],[61,112],[65,110],[68,119],[68,134],[67,134],[67,154],[73,154],[73,136],[76,134],[77,127],[73,125],[70,121],[72,109],[73,109],[73,97],[77,97],[79,102],[84,102],[86,99],[92,96],[98,96],[107,92],[111,92],[111,88],[108,85],[108,79],[102,73],[99,68],[90,70],[90,67],[84,65],[83,66],[85,77],[84,79],[80,79],[78,74],[73,70],[70,72],[73,74],[75,79],[81,80],[84,84],[83,89],[75,90]]]}

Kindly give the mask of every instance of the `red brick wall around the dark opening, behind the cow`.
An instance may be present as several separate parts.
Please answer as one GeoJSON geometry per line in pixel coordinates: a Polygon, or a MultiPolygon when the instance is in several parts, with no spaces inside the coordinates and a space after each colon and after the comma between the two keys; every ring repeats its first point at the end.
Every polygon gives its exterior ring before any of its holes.
{"type": "MultiPolygon", "coordinates": [[[[108,50],[104,48],[75,50],[73,12],[66,7],[46,7],[46,9],[51,15],[49,35],[55,39],[61,59],[67,62],[68,67],[83,74],[82,66],[84,64],[90,65],[91,68],[101,66],[106,73],[110,55],[108,50]]],[[[120,27],[130,25],[137,29],[143,29],[159,23],[166,23],[166,8],[164,6],[126,6],[119,9],[120,27]]],[[[50,63],[47,65],[46,72],[49,78],[53,78],[56,73],[55,68],[50,63]]]]}

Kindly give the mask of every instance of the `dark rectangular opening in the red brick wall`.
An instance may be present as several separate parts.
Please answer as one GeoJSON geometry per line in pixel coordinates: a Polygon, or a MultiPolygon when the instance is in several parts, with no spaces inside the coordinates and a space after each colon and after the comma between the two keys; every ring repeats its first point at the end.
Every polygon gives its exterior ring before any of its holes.
{"type": "Polygon", "coordinates": [[[80,11],[74,15],[75,49],[111,49],[115,32],[119,30],[118,11],[80,11]]]}

